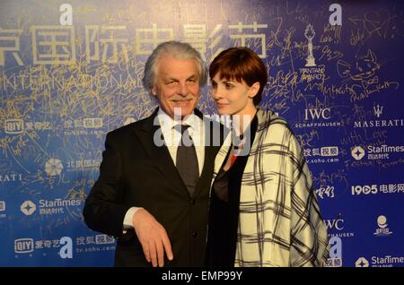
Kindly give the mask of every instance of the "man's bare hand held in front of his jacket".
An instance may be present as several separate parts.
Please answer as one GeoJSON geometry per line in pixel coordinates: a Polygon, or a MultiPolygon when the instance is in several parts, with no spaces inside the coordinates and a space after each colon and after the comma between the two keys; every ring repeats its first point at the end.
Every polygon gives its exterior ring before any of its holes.
{"type": "Polygon", "coordinates": [[[170,239],[162,225],[145,209],[139,209],[133,215],[132,225],[137,238],[143,247],[147,262],[153,266],[164,265],[164,251],[169,260],[172,260],[170,239]]]}

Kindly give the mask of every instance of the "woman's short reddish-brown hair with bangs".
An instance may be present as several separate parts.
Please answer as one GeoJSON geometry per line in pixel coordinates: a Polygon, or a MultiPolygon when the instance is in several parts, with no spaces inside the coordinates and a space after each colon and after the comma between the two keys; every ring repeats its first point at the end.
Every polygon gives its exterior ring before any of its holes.
{"type": "Polygon", "coordinates": [[[222,51],[209,66],[211,79],[216,73],[220,73],[220,79],[244,81],[248,86],[259,82],[259,92],[252,99],[255,106],[259,104],[268,82],[268,72],[262,60],[250,48],[228,48],[222,51]]]}

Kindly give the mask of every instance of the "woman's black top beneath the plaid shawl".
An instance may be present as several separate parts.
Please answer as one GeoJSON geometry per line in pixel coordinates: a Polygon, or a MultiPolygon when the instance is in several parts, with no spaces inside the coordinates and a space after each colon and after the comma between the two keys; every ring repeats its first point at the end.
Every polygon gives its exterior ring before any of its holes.
{"type": "MultiPolygon", "coordinates": [[[[255,116],[244,133],[249,134],[250,132],[250,143],[247,143],[249,148],[254,141],[257,127],[258,118],[255,116]]],[[[206,249],[206,265],[208,266],[234,266],[242,174],[249,155],[238,156],[233,166],[225,171],[224,165],[228,160],[230,150],[211,189],[206,249]]],[[[248,154],[250,154],[250,150],[248,154]]]]}

